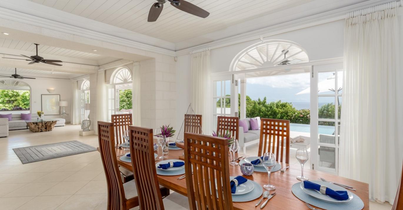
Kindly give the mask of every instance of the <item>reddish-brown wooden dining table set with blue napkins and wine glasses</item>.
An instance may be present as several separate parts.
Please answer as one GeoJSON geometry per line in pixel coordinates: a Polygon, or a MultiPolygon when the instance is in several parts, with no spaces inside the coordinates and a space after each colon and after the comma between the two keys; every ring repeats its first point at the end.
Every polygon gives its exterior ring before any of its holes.
{"type": "MultiPolygon", "coordinates": [[[[160,147],[156,153],[158,156],[161,156],[161,149],[160,147]],[[158,153],[157,153],[158,151],[158,153]]],[[[124,167],[130,171],[132,171],[132,165],[131,163],[123,162],[120,161],[120,156],[124,155],[127,153],[127,150],[119,149],[116,148],[116,156],[117,156],[117,161],[118,165],[121,167],[124,167]]],[[[183,150],[169,150],[169,154],[166,155],[167,158],[164,160],[168,159],[179,159],[179,156],[182,156],[183,150]]],[[[239,154],[236,153],[235,157],[238,156],[245,156],[245,154],[239,154]]],[[[232,158],[233,155],[229,156],[229,158],[232,158]]],[[[162,159],[159,159],[158,157],[156,158],[156,163],[162,161],[162,159]]],[[[285,173],[280,173],[280,171],[276,171],[271,173],[270,175],[270,183],[274,186],[276,186],[276,189],[274,191],[270,191],[270,194],[273,192],[276,192],[276,195],[270,199],[268,204],[264,207],[264,209],[309,209],[306,205],[305,202],[299,200],[297,197],[294,196],[294,194],[291,192],[291,187],[293,184],[300,182],[296,177],[301,175],[301,165],[295,164],[295,165],[289,165],[286,163],[280,163],[280,165],[283,167],[289,166],[289,169],[285,171],[285,173]]],[[[241,169],[239,165],[237,166],[229,166],[229,173],[231,176],[237,176],[237,175],[242,175],[241,169]]],[[[352,191],[354,194],[356,194],[361,200],[364,202],[364,210],[369,209],[369,197],[368,197],[368,183],[363,183],[360,181],[355,181],[353,179],[347,179],[344,177],[339,177],[336,175],[331,175],[328,173],[324,173],[321,171],[315,171],[312,169],[308,169],[308,167],[304,167],[303,174],[305,177],[308,177],[310,180],[318,180],[318,178],[324,178],[328,181],[334,181],[337,183],[343,183],[346,185],[351,185],[353,186],[356,191],[352,191]]],[[[157,175],[158,176],[158,182],[160,185],[167,187],[168,189],[171,189],[173,191],[176,191],[184,196],[187,196],[187,188],[186,188],[186,179],[177,179],[178,177],[181,177],[182,175],[176,175],[176,176],[166,176],[166,175],[157,175]]],[[[245,176],[243,177],[253,180],[257,183],[259,183],[261,186],[264,184],[268,183],[268,173],[262,173],[262,172],[254,172],[250,176],[245,176]]],[[[263,189],[265,191],[266,189],[263,189]]],[[[262,198],[262,196],[260,196],[262,198]]],[[[255,200],[249,201],[249,202],[233,202],[234,209],[236,210],[256,210],[260,209],[259,207],[255,207],[255,204],[259,201],[260,198],[257,198],[255,200]]],[[[262,202],[263,203],[263,202],[262,202]]],[[[262,204],[261,203],[261,204],[262,204]]]]}

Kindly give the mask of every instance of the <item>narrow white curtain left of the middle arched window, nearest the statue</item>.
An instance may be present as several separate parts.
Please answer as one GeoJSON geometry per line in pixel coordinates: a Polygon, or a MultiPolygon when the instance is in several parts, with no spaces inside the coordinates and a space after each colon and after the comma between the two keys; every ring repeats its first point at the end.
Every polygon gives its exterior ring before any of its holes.
{"type": "MultiPolygon", "coordinates": [[[[97,81],[97,121],[106,121],[106,85],[105,85],[105,70],[98,71],[97,81]]],[[[92,122],[97,124],[97,122],[92,122]]]]}

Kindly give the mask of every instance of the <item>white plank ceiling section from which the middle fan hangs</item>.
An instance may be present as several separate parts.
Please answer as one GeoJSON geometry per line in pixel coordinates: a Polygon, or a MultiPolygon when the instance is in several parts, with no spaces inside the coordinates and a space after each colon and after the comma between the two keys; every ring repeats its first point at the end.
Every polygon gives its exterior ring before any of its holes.
{"type": "MultiPolygon", "coordinates": [[[[32,55],[35,55],[36,50],[35,50],[35,45],[30,42],[25,42],[25,41],[19,41],[19,40],[13,40],[13,39],[5,39],[0,37],[0,47],[8,48],[8,49],[18,49],[18,50],[23,50],[23,51],[31,51],[33,52],[32,55]]],[[[6,53],[7,52],[0,52],[0,53],[6,53]]],[[[39,45],[38,46],[38,54],[39,56],[41,54],[52,54],[55,56],[66,56],[66,57],[71,57],[71,58],[80,58],[80,59],[86,59],[86,60],[102,60],[104,58],[108,58],[107,56],[102,56],[98,54],[93,54],[93,53],[87,53],[87,52],[81,52],[81,51],[76,51],[76,50],[71,50],[71,49],[63,49],[60,47],[51,47],[48,45],[39,45]]],[[[32,56],[32,55],[26,55],[26,56],[32,56]]]]}

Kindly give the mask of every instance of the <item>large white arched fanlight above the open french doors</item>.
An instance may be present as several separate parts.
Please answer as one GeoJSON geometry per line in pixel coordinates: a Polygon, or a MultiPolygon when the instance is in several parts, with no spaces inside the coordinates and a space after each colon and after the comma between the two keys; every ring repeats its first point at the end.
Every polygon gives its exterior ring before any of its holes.
{"type": "Polygon", "coordinates": [[[231,70],[249,70],[308,62],[304,49],[297,43],[270,40],[251,45],[233,60],[231,70]]]}

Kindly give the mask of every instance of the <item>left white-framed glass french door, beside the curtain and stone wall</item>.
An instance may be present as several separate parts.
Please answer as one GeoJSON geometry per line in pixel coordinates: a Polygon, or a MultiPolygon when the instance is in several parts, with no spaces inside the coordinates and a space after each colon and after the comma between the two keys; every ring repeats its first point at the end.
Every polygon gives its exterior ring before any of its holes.
{"type": "Polygon", "coordinates": [[[213,130],[217,128],[217,116],[238,116],[238,88],[234,75],[215,76],[213,87],[213,130]]]}

